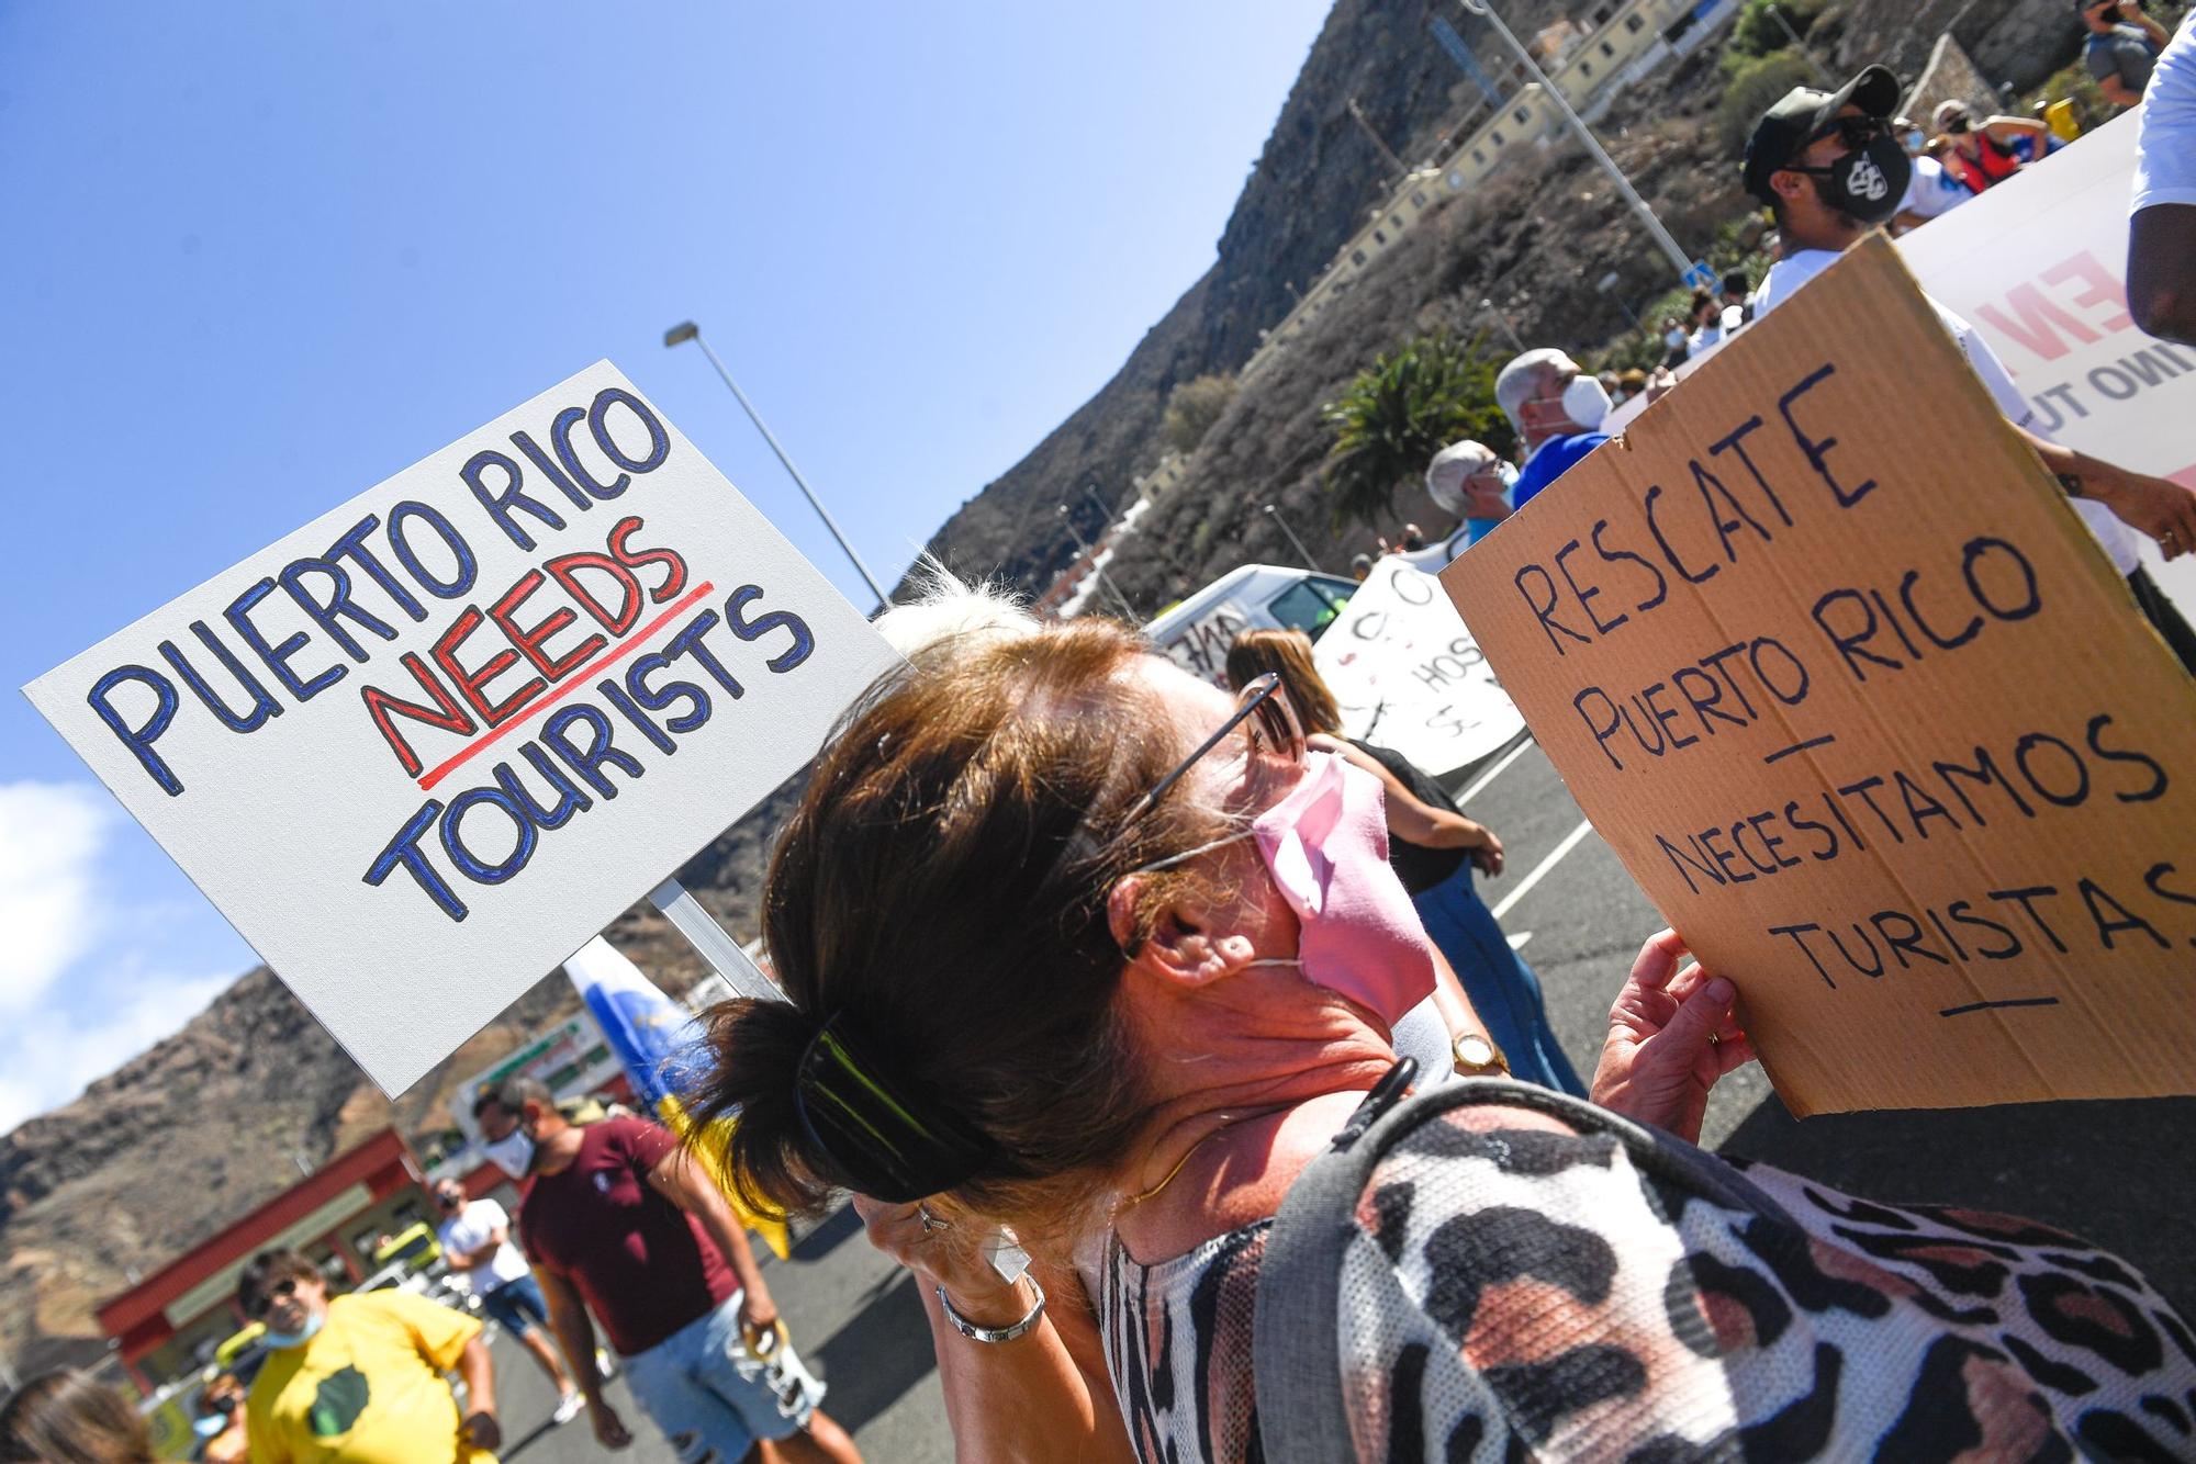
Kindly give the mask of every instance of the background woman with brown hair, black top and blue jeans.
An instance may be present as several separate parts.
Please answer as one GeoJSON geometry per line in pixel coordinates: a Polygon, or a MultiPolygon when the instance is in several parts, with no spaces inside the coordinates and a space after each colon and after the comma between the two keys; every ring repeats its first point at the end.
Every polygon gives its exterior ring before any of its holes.
{"type": "Polygon", "coordinates": [[[1526,966],[1493,913],[1471,887],[1474,869],[1502,874],[1502,841],[1465,817],[1456,799],[1408,757],[1342,735],[1342,711],[1311,663],[1302,630],[1245,630],[1228,647],[1228,680],[1243,687],[1267,672],[1280,676],[1304,720],[1311,746],[1348,757],[1381,779],[1388,814],[1388,863],[1410,893],[1434,948],[1456,970],[1487,1036],[1513,1078],[1586,1097],[1586,1084],[1548,1025],[1539,977],[1526,966]]]}

